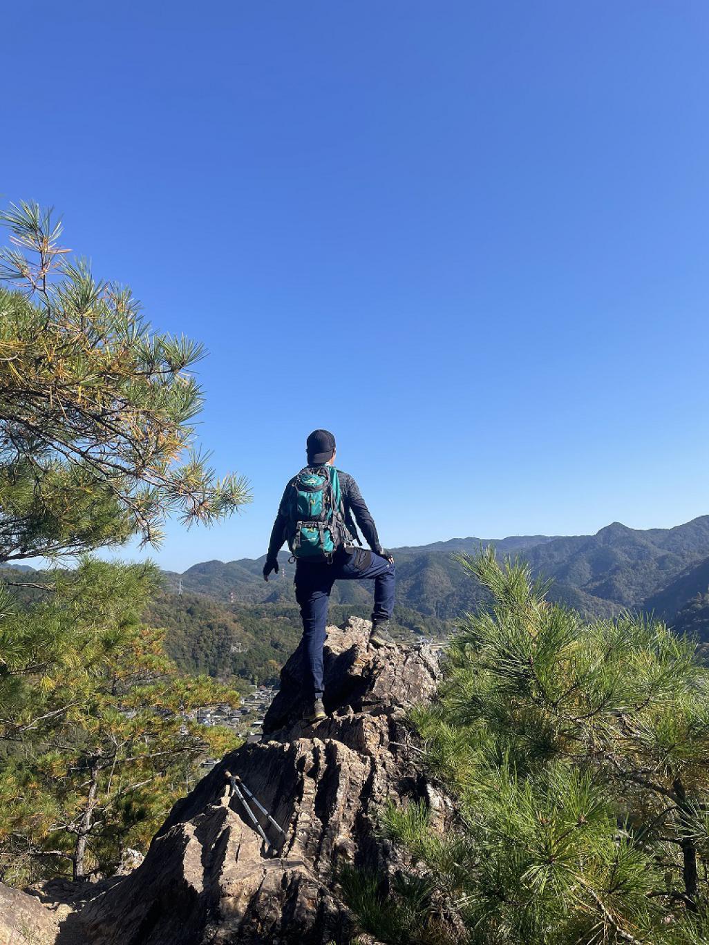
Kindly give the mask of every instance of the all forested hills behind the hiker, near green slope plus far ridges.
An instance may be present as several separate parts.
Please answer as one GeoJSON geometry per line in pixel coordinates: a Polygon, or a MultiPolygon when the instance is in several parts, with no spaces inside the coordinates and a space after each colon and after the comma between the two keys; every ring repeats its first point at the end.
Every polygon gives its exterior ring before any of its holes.
{"type": "MultiPolygon", "coordinates": [[[[485,592],[466,578],[457,555],[490,544],[498,557],[524,558],[535,576],[553,578],[550,599],[587,617],[645,610],[709,641],[709,610],[699,603],[705,605],[709,592],[709,516],[669,529],[640,531],[614,523],[592,536],[452,539],[396,549],[394,620],[400,638],[445,636],[458,626],[460,614],[485,603],[485,592]]],[[[204,561],[182,576],[164,573],[164,593],[151,602],[146,619],[164,627],[167,651],[182,670],[225,681],[277,681],[301,634],[295,568],[282,553],[279,575],[266,583],[263,562],[204,561]]],[[[31,569],[16,577],[43,581],[31,569]]],[[[15,593],[31,600],[40,592],[26,587],[15,593]]],[[[366,617],[371,607],[371,586],[341,581],[333,590],[330,620],[366,617]]]]}

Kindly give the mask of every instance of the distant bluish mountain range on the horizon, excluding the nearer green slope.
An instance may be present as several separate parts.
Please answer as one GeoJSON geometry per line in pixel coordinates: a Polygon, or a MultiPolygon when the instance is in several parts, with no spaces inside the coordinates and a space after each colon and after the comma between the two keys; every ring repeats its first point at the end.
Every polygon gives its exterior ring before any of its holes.
{"type": "MultiPolygon", "coordinates": [[[[709,516],[674,528],[629,528],[619,522],[596,535],[459,538],[394,549],[398,576],[397,602],[409,614],[442,624],[457,621],[482,600],[456,555],[493,544],[498,555],[524,558],[535,576],[551,577],[550,596],[587,615],[613,616],[621,610],[655,610],[668,620],[687,601],[709,588],[709,516]]],[[[205,561],[182,576],[168,575],[174,589],[204,593],[238,605],[292,606],[295,566],[279,558],[281,572],[266,583],[265,558],[205,561]]],[[[366,607],[371,590],[341,581],[333,603],[366,607]]]]}

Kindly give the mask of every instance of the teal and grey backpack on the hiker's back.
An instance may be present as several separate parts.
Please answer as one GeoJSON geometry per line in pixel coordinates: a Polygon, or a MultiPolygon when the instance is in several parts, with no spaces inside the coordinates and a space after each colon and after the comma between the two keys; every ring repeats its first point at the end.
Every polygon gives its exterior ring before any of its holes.
{"type": "Polygon", "coordinates": [[[293,480],[287,541],[293,558],[308,561],[330,561],[337,548],[353,543],[334,466],[306,466],[293,480]]]}

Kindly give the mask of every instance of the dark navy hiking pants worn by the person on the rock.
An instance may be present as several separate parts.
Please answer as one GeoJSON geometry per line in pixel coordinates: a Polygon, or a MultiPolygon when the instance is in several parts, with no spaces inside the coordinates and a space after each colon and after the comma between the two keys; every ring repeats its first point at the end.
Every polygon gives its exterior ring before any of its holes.
{"type": "Polygon", "coordinates": [[[336,555],[332,564],[299,561],[296,566],[296,600],[303,617],[303,686],[306,696],[322,696],[322,644],[325,642],[327,606],[337,580],[374,581],[372,620],[387,620],[394,607],[396,572],[392,561],[373,551],[355,548],[352,555],[336,555]]]}

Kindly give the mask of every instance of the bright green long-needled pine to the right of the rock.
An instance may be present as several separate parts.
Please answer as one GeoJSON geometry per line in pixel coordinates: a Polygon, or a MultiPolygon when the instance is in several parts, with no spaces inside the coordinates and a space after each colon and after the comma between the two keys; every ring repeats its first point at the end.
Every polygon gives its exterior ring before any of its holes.
{"type": "MultiPolygon", "coordinates": [[[[629,616],[584,623],[491,552],[462,563],[492,608],[467,618],[438,703],[411,716],[458,823],[382,816],[435,890],[430,916],[458,941],[700,941],[709,672],[693,644],[629,616]]],[[[390,940],[441,940],[423,927],[390,940]]]]}

